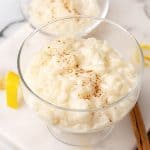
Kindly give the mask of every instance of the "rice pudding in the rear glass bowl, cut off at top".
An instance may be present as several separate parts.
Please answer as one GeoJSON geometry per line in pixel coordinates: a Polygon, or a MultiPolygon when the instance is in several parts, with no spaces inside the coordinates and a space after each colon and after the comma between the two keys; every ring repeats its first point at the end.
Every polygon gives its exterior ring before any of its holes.
{"type": "MultiPolygon", "coordinates": [[[[72,16],[98,17],[100,8],[97,0],[31,0],[28,8],[29,20],[35,27],[40,27],[56,19],[72,16]]],[[[63,23],[55,23],[47,32],[78,31],[93,25],[90,19],[72,19],[63,23]]]]}

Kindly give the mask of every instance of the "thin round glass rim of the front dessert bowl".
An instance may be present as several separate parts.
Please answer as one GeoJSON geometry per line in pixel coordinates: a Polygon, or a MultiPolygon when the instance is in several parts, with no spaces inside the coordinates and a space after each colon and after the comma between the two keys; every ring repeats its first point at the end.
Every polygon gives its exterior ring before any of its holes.
{"type": "Polygon", "coordinates": [[[120,26],[119,24],[111,21],[111,20],[108,20],[108,19],[104,19],[104,18],[98,18],[98,17],[83,17],[83,16],[80,16],[80,18],[83,18],[83,19],[95,19],[95,20],[100,20],[100,21],[104,21],[104,22],[107,22],[108,24],[111,24],[111,25],[114,25],[115,27],[119,28],[120,30],[122,30],[123,32],[125,32],[126,34],[128,34],[128,36],[135,42],[135,44],[137,45],[137,49],[138,51],[140,52],[140,59],[141,59],[141,62],[140,62],[140,71],[138,72],[138,79],[137,79],[137,84],[135,85],[134,88],[132,88],[127,94],[125,94],[124,96],[122,96],[121,98],[119,98],[117,101],[105,106],[105,107],[101,107],[101,108],[94,108],[94,109],[75,109],[75,108],[66,108],[66,107],[62,107],[62,106],[58,106],[56,104],[53,104],[51,102],[48,102],[47,100],[41,98],[38,94],[36,94],[29,86],[28,84],[26,83],[24,77],[23,77],[23,73],[21,71],[21,66],[20,66],[20,57],[21,57],[21,53],[22,53],[22,49],[23,49],[23,46],[24,44],[26,43],[26,41],[28,41],[30,38],[32,38],[32,36],[34,36],[37,32],[41,32],[40,30],[50,24],[53,24],[57,21],[62,21],[62,20],[66,20],[66,19],[74,19],[74,18],[79,18],[79,16],[74,16],[74,17],[65,17],[65,18],[62,18],[62,19],[57,19],[55,21],[51,21],[51,22],[48,22],[47,24],[41,26],[40,28],[38,29],[35,29],[33,32],[31,32],[25,39],[24,41],[22,42],[20,48],[19,48],[19,52],[18,52],[18,56],[17,56],[17,69],[18,69],[18,73],[19,73],[19,76],[21,78],[21,81],[22,83],[24,84],[24,86],[29,90],[29,92],[34,95],[37,99],[41,100],[42,102],[50,105],[51,107],[54,107],[56,109],[60,109],[60,110],[64,110],[64,111],[72,111],[72,112],[96,112],[96,111],[104,111],[110,107],[113,107],[115,106],[116,104],[124,101],[128,96],[130,96],[132,94],[132,92],[134,92],[134,90],[136,90],[136,88],[138,86],[141,85],[141,80],[142,80],[142,76],[143,76],[143,72],[144,72],[144,57],[143,57],[143,52],[142,52],[142,49],[140,47],[140,44],[138,43],[138,41],[136,40],[136,38],[130,33],[128,32],[126,29],[124,29],[122,26],[120,26]]]}

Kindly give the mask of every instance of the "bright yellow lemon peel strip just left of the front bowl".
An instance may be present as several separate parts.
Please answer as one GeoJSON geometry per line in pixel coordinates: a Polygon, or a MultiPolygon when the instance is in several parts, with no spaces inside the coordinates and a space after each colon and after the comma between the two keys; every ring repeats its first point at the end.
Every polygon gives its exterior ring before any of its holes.
{"type": "Polygon", "coordinates": [[[16,109],[18,108],[19,76],[14,72],[8,72],[5,82],[7,105],[16,109]]]}

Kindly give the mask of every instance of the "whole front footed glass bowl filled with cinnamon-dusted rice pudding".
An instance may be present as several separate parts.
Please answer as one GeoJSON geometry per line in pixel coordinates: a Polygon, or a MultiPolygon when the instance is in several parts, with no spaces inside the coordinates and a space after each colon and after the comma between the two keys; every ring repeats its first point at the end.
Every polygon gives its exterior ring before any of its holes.
{"type": "Polygon", "coordinates": [[[106,19],[80,17],[101,22],[87,34],[41,32],[75,18],[31,33],[20,48],[18,71],[26,103],[52,135],[67,144],[87,146],[106,137],[137,102],[143,54],[130,33],[106,19]],[[135,53],[138,62],[133,60],[135,53]]]}

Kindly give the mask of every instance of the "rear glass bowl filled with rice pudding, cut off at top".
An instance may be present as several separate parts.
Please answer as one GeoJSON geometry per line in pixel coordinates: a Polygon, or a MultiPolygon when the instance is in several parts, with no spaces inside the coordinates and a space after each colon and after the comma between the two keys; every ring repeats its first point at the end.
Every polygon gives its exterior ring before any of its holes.
{"type": "MultiPolygon", "coordinates": [[[[23,16],[34,28],[39,28],[48,22],[64,17],[90,16],[105,18],[109,9],[109,0],[20,0],[20,8],[23,16]]],[[[69,23],[75,26],[74,30],[87,26],[92,30],[100,22],[94,20],[72,19],[69,23]],[[90,20],[91,21],[91,20],[90,20]]],[[[66,22],[55,24],[47,28],[46,32],[58,34],[67,32],[66,22]]]]}

